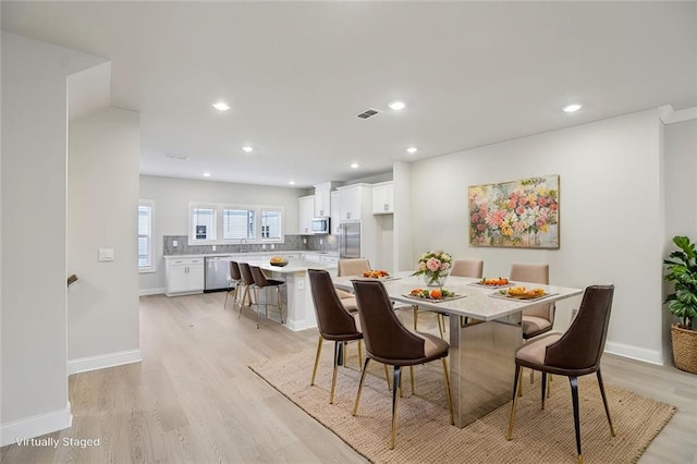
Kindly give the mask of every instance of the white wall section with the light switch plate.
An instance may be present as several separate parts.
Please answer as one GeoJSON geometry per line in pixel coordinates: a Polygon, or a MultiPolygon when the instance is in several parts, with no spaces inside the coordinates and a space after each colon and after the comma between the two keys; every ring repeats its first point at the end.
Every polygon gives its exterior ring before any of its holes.
{"type": "Polygon", "coordinates": [[[139,117],[108,108],[70,123],[69,373],[140,359],[137,208],[139,117]],[[114,260],[100,262],[99,248],[114,260]]]}

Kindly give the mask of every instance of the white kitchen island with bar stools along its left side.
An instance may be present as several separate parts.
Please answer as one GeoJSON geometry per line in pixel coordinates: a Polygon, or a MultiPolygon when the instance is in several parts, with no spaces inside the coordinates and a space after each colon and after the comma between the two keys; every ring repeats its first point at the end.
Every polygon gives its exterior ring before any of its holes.
{"type": "Polygon", "coordinates": [[[302,259],[291,259],[284,267],[272,266],[268,259],[244,262],[258,266],[271,279],[285,281],[286,291],[283,305],[285,323],[289,329],[304,330],[317,327],[307,269],[325,269],[335,276],[335,264],[310,262],[302,259]]]}

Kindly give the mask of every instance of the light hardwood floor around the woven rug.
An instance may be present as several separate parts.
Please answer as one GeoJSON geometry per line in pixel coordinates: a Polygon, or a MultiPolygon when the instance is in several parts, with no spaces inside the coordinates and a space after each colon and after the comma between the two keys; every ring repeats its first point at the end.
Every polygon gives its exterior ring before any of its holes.
{"type": "MultiPolygon", "coordinates": [[[[365,462],[247,368],[315,347],[317,331],[265,320],[257,330],[250,312],[223,312],[223,298],[142,297],[143,363],[71,376],[73,427],[47,436],[61,444],[11,444],[1,462],[365,462]],[[100,443],[64,447],[64,438],[100,443]]],[[[401,317],[411,327],[411,310],[401,317]]],[[[425,327],[437,331],[433,314],[419,315],[425,327]]],[[[606,355],[603,377],[678,408],[640,463],[697,463],[697,376],[606,355]]]]}

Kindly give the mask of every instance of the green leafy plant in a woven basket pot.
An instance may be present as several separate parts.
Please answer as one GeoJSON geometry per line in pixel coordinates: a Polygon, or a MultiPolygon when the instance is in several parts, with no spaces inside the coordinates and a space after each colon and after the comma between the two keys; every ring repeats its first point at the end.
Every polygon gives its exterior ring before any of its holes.
{"type": "Polygon", "coordinates": [[[680,249],[663,260],[668,273],[664,279],[673,283],[673,293],[665,297],[668,310],[680,318],[671,326],[673,361],[675,367],[697,374],[697,252],[695,244],[686,236],[673,237],[680,249]]]}

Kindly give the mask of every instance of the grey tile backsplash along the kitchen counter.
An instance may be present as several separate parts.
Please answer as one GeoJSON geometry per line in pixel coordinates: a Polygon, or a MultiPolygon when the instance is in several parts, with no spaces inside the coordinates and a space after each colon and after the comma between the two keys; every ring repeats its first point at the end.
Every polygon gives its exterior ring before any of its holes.
{"type": "MultiPolygon", "coordinates": [[[[261,248],[261,244],[250,243],[248,245],[216,245],[213,252],[212,245],[189,245],[187,235],[164,235],[162,236],[163,255],[221,255],[225,253],[241,253],[243,251],[249,253],[271,253],[267,244],[266,249],[261,248]],[[176,246],[174,246],[176,242],[176,246]]],[[[339,242],[334,235],[285,235],[284,243],[273,244],[273,252],[283,251],[322,251],[337,252],[339,242]],[[307,243],[303,243],[306,239],[307,243]],[[321,242],[321,243],[320,243],[321,242]]]]}

